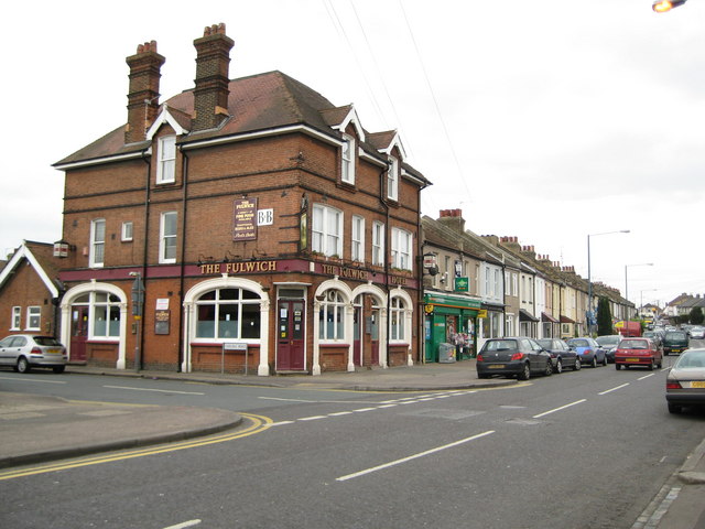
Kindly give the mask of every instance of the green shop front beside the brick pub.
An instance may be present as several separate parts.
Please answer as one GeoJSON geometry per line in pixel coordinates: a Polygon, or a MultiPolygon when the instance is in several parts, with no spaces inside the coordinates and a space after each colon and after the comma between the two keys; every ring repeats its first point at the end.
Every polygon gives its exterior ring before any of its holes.
{"type": "MultiPolygon", "coordinates": [[[[424,358],[426,363],[444,361],[442,344],[455,346],[455,359],[473,358],[477,353],[477,317],[481,301],[458,294],[424,295],[424,358]]],[[[443,346],[447,348],[447,346],[443,346]]]]}

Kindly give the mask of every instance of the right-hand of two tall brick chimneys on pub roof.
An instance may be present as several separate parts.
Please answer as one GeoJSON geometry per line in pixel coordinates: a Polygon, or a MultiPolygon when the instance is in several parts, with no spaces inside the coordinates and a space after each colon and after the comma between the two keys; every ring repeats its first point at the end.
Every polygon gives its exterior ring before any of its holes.
{"type": "Polygon", "coordinates": [[[215,129],[228,117],[228,68],[235,42],[225,34],[225,24],[206,28],[196,47],[193,130],[215,129]]]}

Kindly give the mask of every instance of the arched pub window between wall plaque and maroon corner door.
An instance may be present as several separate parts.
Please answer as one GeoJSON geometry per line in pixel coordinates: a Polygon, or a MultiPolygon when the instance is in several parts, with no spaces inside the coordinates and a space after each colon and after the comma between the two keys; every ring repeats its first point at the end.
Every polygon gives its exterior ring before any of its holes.
{"type": "Polygon", "coordinates": [[[257,339],[260,298],[245,289],[216,289],[196,300],[196,338],[257,339]]]}

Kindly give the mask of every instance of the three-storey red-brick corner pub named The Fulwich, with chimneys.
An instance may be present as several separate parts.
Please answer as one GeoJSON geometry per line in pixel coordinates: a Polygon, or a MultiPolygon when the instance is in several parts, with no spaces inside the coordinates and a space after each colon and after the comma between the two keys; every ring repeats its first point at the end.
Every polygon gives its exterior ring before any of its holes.
{"type": "Polygon", "coordinates": [[[165,60],[138,46],[127,125],[55,164],[70,361],[260,376],[417,361],[430,183],[397,132],[280,72],[230,80],[224,24],[194,45],[195,87],[163,102],[165,60]]]}

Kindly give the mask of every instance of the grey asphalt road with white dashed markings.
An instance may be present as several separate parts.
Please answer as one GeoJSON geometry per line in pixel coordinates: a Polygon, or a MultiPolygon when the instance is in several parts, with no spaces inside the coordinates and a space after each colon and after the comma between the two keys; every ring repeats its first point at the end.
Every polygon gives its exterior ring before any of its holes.
{"type": "Polygon", "coordinates": [[[268,425],[0,482],[0,526],[13,529],[631,528],[705,438],[703,413],[669,414],[665,370],[612,365],[426,393],[31,378],[3,371],[0,387],[218,407],[268,425]]]}

